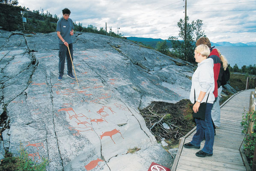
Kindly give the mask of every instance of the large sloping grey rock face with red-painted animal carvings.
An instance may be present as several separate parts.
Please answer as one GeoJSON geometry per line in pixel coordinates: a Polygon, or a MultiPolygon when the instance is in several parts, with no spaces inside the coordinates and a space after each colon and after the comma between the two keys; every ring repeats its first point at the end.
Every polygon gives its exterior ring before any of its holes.
{"type": "Polygon", "coordinates": [[[18,155],[22,143],[34,161],[50,160],[47,171],[171,168],[138,108],[188,98],[193,65],[105,35],[77,32],[73,42],[79,86],[66,75],[57,80],[56,32],[0,30],[2,155],[18,155]]]}

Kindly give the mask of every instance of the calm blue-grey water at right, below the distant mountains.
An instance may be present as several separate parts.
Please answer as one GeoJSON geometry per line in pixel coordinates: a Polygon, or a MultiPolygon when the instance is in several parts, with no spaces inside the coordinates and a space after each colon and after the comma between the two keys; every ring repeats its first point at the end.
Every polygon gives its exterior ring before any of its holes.
{"type": "Polygon", "coordinates": [[[216,46],[215,48],[220,50],[232,67],[237,64],[241,69],[243,65],[256,64],[256,46],[216,46]]]}

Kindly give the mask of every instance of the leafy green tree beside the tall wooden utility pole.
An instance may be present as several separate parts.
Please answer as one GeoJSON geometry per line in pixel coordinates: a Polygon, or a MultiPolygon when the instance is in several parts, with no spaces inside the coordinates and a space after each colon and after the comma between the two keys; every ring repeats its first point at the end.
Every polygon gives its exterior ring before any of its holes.
{"type": "Polygon", "coordinates": [[[185,30],[185,19],[177,23],[179,27],[179,37],[171,36],[168,38],[172,43],[174,56],[188,62],[195,62],[194,50],[196,48],[196,40],[202,36],[205,36],[204,30],[202,30],[202,20],[196,20],[189,23],[189,17],[187,16],[187,29],[185,30]],[[185,40],[186,32],[186,40],[185,40]]]}

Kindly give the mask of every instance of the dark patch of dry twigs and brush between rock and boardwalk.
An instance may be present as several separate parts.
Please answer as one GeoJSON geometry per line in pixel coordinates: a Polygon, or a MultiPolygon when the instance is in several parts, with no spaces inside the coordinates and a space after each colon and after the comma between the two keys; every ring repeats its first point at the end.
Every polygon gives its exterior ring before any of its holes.
{"type": "Polygon", "coordinates": [[[146,126],[158,142],[164,138],[168,147],[179,144],[179,138],[185,136],[196,126],[192,116],[192,103],[188,99],[178,103],[152,102],[140,114],[146,126]]]}

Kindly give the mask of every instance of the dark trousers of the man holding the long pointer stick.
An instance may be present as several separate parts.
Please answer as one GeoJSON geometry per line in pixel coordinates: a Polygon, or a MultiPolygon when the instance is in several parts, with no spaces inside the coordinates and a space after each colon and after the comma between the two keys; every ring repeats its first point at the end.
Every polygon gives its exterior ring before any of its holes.
{"type": "Polygon", "coordinates": [[[66,47],[65,44],[59,44],[59,74],[64,74],[65,68],[65,58],[67,58],[67,72],[68,74],[72,74],[72,62],[69,56],[68,48],[73,61],[73,44],[68,44],[66,47]]]}

